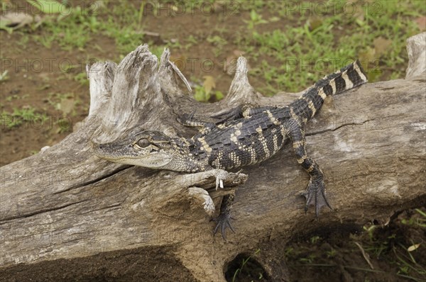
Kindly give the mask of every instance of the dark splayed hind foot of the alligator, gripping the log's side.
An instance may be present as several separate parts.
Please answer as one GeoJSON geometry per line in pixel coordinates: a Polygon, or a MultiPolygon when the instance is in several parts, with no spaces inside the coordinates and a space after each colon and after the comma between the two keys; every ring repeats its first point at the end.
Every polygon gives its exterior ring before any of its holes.
{"type": "Polygon", "coordinates": [[[322,177],[311,177],[309,184],[305,193],[302,193],[302,196],[305,196],[305,213],[307,208],[310,205],[315,205],[315,215],[320,215],[320,209],[327,205],[330,210],[333,210],[332,207],[327,202],[327,197],[325,196],[324,188],[324,179],[322,177]]]}

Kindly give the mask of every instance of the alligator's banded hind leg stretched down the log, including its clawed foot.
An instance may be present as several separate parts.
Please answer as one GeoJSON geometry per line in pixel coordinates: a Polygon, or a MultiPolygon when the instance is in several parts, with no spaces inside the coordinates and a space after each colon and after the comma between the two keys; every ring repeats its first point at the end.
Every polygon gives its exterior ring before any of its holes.
{"type": "Polygon", "coordinates": [[[302,165],[303,169],[310,175],[310,181],[303,196],[306,198],[305,212],[308,206],[315,205],[315,214],[320,214],[322,206],[327,205],[332,210],[332,207],[327,202],[324,188],[324,174],[322,173],[318,164],[307,156],[305,147],[305,132],[299,120],[289,120],[290,140],[293,142],[293,150],[297,162],[302,165]]]}

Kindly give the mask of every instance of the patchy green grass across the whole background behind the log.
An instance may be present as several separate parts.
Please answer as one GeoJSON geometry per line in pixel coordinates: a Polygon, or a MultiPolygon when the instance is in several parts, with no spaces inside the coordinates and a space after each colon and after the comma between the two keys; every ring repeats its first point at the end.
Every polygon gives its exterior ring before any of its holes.
{"type": "MultiPolygon", "coordinates": [[[[161,18],[160,5],[169,5],[170,9],[185,6],[187,11],[197,11],[202,3],[150,1],[153,4],[150,11],[143,3],[98,1],[94,6],[84,8],[77,3],[67,16],[48,14],[43,16],[41,24],[33,23],[27,29],[13,30],[13,33],[20,35],[17,40],[20,49],[35,41],[46,49],[59,46],[73,54],[76,50],[80,54],[87,50],[104,52],[102,57],[116,62],[141,43],[148,43],[157,57],[164,47],[169,47],[172,55],[182,58],[192,58],[196,52],[199,60],[207,57],[217,69],[221,69],[218,66],[227,57],[234,56],[229,52],[237,50],[248,59],[249,79],[253,86],[262,94],[271,96],[279,91],[301,91],[357,58],[363,63],[371,82],[403,77],[408,62],[405,40],[421,32],[415,20],[426,14],[422,1],[370,3],[339,0],[322,2],[320,6],[317,2],[211,0],[208,3],[218,11],[204,16],[204,26],[200,26],[202,32],[182,37],[179,30],[165,32],[160,34],[162,43],[154,44],[144,37],[144,32],[150,28],[150,31],[161,31],[161,28],[149,27],[152,17],[161,18]],[[235,21],[233,26],[226,24],[224,10],[220,9],[224,6],[227,13],[234,16],[229,17],[235,21]],[[351,8],[349,11],[354,8],[354,12],[342,13],[345,7],[351,8]],[[109,46],[111,52],[104,50],[99,38],[109,38],[109,44],[114,43],[109,46]]],[[[6,4],[2,2],[2,5],[6,4]]],[[[178,16],[170,17],[180,20],[178,16]]],[[[184,17],[189,18],[190,13],[184,17]]],[[[84,55],[86,58],[90,56],[84,55]]],[[[211,74],[200,72],[200,69],[195,72],[197,76],[189,74],[192,82],[198,83],[194,86],[195,98],[203,102],[220,100],[228,87],[221,84],[226,74],[215,74],[217,89],[206,91],[202,86],[203,77],[211,74]]],[[[70,75],[63,79],[87,87],[88,81],[81,70],[75,73],[70,69],[70,75]]],[[[9,82],[7,73],[1,74],[0,81],[9,82]]]]}

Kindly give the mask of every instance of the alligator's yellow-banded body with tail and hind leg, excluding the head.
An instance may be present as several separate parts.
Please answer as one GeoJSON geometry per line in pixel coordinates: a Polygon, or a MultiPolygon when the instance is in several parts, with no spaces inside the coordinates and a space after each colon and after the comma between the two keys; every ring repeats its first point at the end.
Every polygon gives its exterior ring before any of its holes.
{"type": "MultiPolygon", "coordinates": [[[[356,61],[330,74],[310,87],[288,106],[250,108],[240,106],[225,114],[217,124],[204,123],[208,133],[192,137],[192,154],[200,162],[200,169],[234,169],[273,156],[289,140],[296,160],[310,174],[310,183],[304,196],[305,209],[315,205],[315,213],[330,205],[324,188],[324,175],[318,164],[306,153],[305,124],[320,110],[327,96],[341,93],[366,83],[366,74],[356,61]],[[203,150],[205,144],[210,152],[203,150]]],[[[191,121],[187,122],[190,125],[191,121]]],[[[205,130],[204,130],[205,131],[205,130]]]]}

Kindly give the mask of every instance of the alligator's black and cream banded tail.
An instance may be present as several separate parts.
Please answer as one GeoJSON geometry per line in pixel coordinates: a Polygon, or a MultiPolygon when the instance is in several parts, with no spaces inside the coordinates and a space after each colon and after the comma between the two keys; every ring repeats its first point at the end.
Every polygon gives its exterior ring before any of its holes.
{"type": "Polygon", "coordinates": [[[293,108],[296,115],[307,121],[320,110],[327,96],[342,93],[366,82],[366,73],[362,69],[359,60],[356,60],[346,67],[342,67],[339,71],[317,81],[314,86],[296,101],[290,103],[289,106],[293,108]]]}

